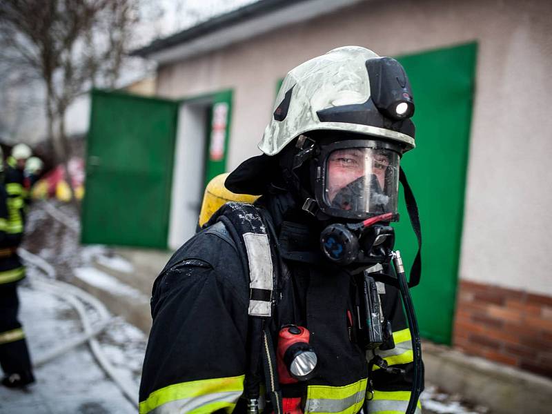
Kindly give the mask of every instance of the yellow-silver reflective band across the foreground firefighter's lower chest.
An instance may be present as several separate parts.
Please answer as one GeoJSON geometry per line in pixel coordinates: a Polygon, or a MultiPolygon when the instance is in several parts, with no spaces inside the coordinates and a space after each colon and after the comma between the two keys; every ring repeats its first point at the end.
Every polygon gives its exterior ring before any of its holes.
{"type": "Polygon", "coordinates": [[[366,395],[366,378],[346,386],[309,385],[305,413],[353,414],[366,395]]]}

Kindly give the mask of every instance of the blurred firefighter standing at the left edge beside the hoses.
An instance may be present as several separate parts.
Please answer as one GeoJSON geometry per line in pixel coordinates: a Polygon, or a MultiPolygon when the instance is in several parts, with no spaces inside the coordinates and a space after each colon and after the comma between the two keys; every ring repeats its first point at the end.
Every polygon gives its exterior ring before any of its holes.
{"type": "MultiPolygon", "coordinates": [[[[18,156],[27,153],[14,152],[18,156]]],[[[1,163],[0,168],[0,366],[4,373],[2,384],[21,388],[34,382],[25,333],[17,320],[17,283],[25,277],[25,268],[17,255],[23,237],[22,186],[17,180],[12,181],[12,194],[8,195],[1,163]]],[[[17,177],[15,172],[13,175],[17,177]]]]}

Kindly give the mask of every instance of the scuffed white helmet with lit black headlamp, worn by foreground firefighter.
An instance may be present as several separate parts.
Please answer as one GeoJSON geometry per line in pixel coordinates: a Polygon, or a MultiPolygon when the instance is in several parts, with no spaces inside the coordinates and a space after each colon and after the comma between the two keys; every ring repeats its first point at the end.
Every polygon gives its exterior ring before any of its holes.
{"type": "Polygon", "coordinates": [[[259,149],[275,155],[304,132],[335,130],[395,141],[406,151],[415,146],[408,119],[413,112],[400,63],[366,48],[344,46],[288,72],[259,149]]]}

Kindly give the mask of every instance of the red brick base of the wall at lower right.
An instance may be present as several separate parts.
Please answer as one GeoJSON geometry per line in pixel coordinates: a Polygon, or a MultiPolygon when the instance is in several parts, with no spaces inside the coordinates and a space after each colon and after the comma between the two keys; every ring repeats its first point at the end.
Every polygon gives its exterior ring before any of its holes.
{"type": "Polygon", "coordinates": [[[461,281],[453,346],[552,377],[552,297],[461,281]]]}

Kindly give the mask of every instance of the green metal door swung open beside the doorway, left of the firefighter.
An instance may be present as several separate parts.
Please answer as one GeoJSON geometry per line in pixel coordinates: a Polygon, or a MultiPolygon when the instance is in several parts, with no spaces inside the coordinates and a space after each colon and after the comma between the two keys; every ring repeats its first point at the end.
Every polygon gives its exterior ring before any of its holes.
{"type": "Polygon", "coordinates": [[[166,248],[178,103],[92,92],[81,241],[166,248]]]}

